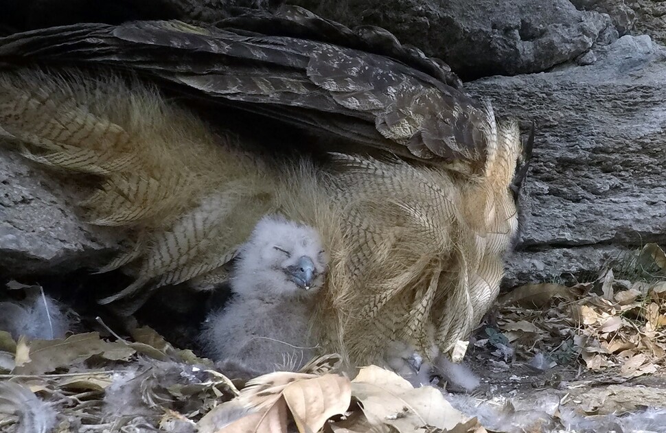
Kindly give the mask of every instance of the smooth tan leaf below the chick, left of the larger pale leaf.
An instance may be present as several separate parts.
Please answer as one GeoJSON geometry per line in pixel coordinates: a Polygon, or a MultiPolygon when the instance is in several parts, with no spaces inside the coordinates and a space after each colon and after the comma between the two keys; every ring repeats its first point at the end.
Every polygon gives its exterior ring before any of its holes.
{"type": "Polygon", "coordinates": [[[284,388],[282,397],[299,432],[318,432],[330,417],[347,411],[352,386],[347,377],[329,374],[293,382],[284,388]]]}

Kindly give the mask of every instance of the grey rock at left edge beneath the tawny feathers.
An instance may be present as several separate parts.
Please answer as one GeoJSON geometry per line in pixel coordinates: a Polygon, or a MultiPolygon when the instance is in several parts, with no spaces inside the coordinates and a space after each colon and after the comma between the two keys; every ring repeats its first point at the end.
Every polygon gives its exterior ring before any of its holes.
{"type": "Polygon", "coordinates": [[[100,266],[118,250],[111,235],[73,213],[80,193],[0,147],[0,274],[100,266]]]}

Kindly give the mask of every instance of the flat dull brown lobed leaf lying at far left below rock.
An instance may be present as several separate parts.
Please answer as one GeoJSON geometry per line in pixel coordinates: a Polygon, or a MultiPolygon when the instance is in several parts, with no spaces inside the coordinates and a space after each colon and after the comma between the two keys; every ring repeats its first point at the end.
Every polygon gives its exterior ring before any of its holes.
{"type": "Polygon", "coordinates": [[[74,334],[65,340],[27,342],[21,338],[16,347],[16,368],[13,373],[38,375],[59,367],[69,367],[93,355],[101,355],[108,360],[126,360],[134,353],[134,349],[126,344],[100,339],[97,332],[74,334]]]}

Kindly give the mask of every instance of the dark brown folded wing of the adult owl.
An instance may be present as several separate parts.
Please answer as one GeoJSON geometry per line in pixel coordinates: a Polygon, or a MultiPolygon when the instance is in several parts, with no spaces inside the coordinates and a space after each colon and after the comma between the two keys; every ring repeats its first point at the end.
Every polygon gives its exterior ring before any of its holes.
{"type": "Polygon", "coordinates": [[[301,8],[254,16],[207,27],[133,21],[34,30],[0,38],[0,62],[130,69],[400,156],[485,160],[485,113],[455,87],[446,65],[384,30],[354,32],[301,8]],[[270,23],[282,25],[271,33],[270,23]],[[293,24],[289,32],[287,23],[293,24]]]}

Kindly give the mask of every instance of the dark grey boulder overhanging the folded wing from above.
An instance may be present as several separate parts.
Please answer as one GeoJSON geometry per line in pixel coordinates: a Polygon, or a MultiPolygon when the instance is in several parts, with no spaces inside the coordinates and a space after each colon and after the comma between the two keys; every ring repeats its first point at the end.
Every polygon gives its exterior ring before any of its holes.
{"type": "Polygon", "coordinates": [[[463,79],[544,71],[617,38],[610,17],[569,0],[297,0],[346,25],[379,25],[463,79]]]}

